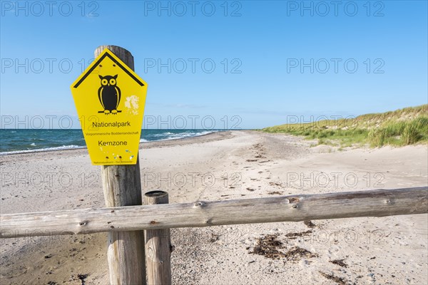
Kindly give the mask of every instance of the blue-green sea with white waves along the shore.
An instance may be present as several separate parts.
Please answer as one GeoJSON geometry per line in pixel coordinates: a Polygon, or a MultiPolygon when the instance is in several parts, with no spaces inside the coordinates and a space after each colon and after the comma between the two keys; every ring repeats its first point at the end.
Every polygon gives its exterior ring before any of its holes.
{"type": "MultiPolygon", "coordinates": [[[[221,130],[141,130],[140,142],[192,138],[221,130]]],[[[86,147],[82,130],[0,129],[0,155],[86,147]]]]}

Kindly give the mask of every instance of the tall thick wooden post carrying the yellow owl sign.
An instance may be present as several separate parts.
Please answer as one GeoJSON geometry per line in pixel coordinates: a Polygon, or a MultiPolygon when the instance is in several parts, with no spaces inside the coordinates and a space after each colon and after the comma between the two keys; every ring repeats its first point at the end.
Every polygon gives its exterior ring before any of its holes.
{"type": "MultiPolygon", "coordinates": [[[[95,57],[105,48],[134,69],[132,54],[119,46],[98,46],[95,57]]],[[[139,157],[136,165],[101,166],[101,177],[106,207],[142,204],[139,157]]],[[[143,231],[108,232],[107,258],[112,285],[146,284],[143,231]]]]}

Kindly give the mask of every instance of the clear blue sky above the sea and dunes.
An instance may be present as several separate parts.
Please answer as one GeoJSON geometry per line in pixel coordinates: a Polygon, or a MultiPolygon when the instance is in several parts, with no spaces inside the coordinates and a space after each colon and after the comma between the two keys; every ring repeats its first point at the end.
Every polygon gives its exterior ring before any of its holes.
{"type": "Polygon", "coordinates": [[[133,53],[146,128],[426,104],[427,14],[427,1],[1,1],[1,128],[79,128],[70,85],[103,44],[133,53]]]}

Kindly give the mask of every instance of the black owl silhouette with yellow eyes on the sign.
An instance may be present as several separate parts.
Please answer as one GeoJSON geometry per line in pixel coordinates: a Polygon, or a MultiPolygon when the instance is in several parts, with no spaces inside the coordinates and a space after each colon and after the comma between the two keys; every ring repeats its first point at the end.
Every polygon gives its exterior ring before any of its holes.
{"type": "Polygon", "coordinates": [[[121,89],[116,86],[116,76],[100,76],[101,87],[98,88],[98,100],[100,100],[101,106],[104,110],[98,113],[114,114],[121,113],[118,110],[119,103],[121,102],[121,89]]]}

